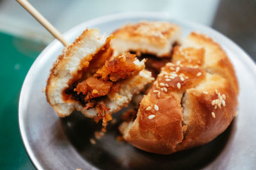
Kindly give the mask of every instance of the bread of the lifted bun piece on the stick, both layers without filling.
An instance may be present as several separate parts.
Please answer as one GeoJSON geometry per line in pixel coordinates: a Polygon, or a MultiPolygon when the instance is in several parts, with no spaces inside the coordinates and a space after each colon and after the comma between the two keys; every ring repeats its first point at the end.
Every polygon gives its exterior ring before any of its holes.
{"type": "MultiPolygon", "coordinates": [[[[111,39],[112,36],[108,38],[100,36],[97,29],[86,29],[72,45],[63,50],[52,66],[47,80],[45,95],[48,103],[60,117],[66,117],[74,110],[81,111],[86,117],[99,117],[99,112],[102,110],[94,106],[88,107],[84,106],[83,103],[81,104],[81,101],[76,99],[76,96],[82,96],[83,100],[86,97],[86,93],[84,94],[83,91],[76,92],[75,89],[77,83],[93,76],[97,70],[99,71],[100,68],[105,66],[104,64],[108,64],[111,62],[110,60],[113,60],[113,50],[110,46],[111,39]],[[73,85],[75,86],[72,87],[73,85]],[[68,88],[71,88],[70,91],[76,95],[75,97],[72,96],[73,94],[67,94],[68,88]]],[[[120,60],[124,60],[126,59],[125,57],[129,56],[129,53],[124,53],[115,58],[115,61],[121,62],[120,60]]],[[[118,90],[115,90],[115,92],[110,90],[107,95],[99,99],[104,104],[104,109],[106,109],[104,110],[105,115],[115,113],[127,106],[134,94],[138,94],[147,83],[154,80],[151,77],[151,73],[143,69],[145,67],[144,62],[145,60],[134,59],[132,64],[136,66],[137,72],[120,80],[118,90]]],[[[106,67],[108,66],[105,66],[104,69],[106,67]]],[[[99,79],[100,75],[97,76],[99,79]]],[[[98,90],[93,91],[93,93],[97,93],[98,90]]],[[[89,99],[91,98],[89,97],[89,99]]]]}

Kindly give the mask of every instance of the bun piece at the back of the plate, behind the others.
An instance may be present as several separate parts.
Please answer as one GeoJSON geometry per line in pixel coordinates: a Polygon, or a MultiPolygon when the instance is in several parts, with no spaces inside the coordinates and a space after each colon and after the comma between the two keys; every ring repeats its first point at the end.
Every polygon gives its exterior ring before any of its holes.
{"type": "Polygon", "coordinates": [[[150,53],[170,57],[172,46],[180,40],[180,27],[170,22],[127,24],[113,32],[111,46],[116,52],[150,53]]]}

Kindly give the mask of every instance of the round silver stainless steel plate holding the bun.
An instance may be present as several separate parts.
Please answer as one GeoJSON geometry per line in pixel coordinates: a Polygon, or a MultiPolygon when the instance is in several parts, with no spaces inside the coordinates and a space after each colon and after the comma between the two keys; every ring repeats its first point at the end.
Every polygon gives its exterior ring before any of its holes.
{"type": "Polygon", "coordinates": [[[97,27],[109,34],[120,25],[140,20],[174,22],[182,27],[184,37],[191,31],[199,31],[220,43],[232,60],[239,79],[239,115],[227,131],[211,143],[172,155],[147,153],[116,141],[117,125],[109,125],[106,136],[92,145],[90,138],[100,125],[78,112],[67,118],[58,117],[42,93],[52,63],[63,48],[54,40],[34,62],[20,93],[20,134],[33,164],[38,169],[255,168],[256,66],[230,39],[209,27],[157,13],[125,13],[97,18],[77,25],[65,34],[65,38],[73,41],[86,27],[97,27]]]}

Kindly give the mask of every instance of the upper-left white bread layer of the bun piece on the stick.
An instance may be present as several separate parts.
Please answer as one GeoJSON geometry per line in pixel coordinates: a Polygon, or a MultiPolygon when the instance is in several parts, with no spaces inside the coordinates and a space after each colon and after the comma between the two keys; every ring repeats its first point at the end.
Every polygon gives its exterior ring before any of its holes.
{"type": "Polygon", "coordinates": [[[63,101],[63,90],[68,87],[70,80],[81,78],[81,72],[88,69],[90,61],[99,56],[95,53],[107,51],[110,39],[101,37],[97,29],[86,29],[70,46],[63,49],[54,62],[45,96],[60,117],[70,115],[77,108],[75,101],[63,101]]]}

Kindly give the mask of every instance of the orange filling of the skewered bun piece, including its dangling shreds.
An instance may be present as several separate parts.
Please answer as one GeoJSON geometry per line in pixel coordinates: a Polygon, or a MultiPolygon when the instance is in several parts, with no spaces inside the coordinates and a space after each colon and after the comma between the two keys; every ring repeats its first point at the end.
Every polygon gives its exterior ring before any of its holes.
{"type": "Polygon", "coordinates": [[[106,130],[106,124],[111,120],[111,115],[106,114],[106,108],[102,102],[109,92],[119,92],[122,80],[135,76],[144,67],[134,64],[136,55],[124,53],[111,61],[106,61],[93,76],[79,83],[74,82],[65,90],[71,99],[79,101],[86,110],[95,107],[98,115],[95,122],[102,119],[102,131],[106,130]]]}

